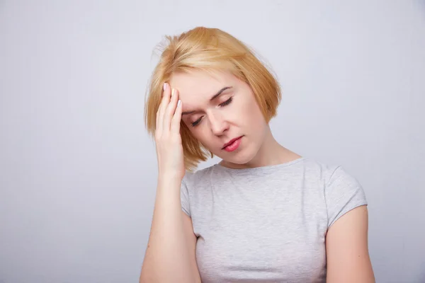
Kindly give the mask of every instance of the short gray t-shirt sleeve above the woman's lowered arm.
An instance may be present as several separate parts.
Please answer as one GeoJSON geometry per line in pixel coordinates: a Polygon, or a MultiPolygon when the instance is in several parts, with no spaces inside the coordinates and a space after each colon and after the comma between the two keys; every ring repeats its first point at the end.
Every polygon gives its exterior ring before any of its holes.
{"type": "Polygon", "coordinates": [[[351,209],[367,205],[363,187],[358,180],[338,166],[325,187],[328,228],[351,209]]]}

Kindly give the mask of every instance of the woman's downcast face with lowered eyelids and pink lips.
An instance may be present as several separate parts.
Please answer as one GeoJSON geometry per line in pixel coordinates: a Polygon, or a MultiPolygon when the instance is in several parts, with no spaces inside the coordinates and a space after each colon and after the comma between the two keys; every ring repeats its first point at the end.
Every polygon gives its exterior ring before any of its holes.
{"type": "Polygon", "coordinates": [[[268,124],[247,83],[230,73],[204,71],[173,74],[179,91],[182,121],[212,154],[246,164],[258,153],[268,124]]]}

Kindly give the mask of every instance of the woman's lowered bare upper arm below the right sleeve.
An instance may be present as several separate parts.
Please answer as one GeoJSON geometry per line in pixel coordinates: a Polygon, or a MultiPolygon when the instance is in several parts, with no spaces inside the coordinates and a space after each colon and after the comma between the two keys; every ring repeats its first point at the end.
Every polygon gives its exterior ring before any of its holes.
{"type": "Polygon", "coordinates": [[[368,209],[356,207],[341,216],[326,236],[327,282],[374,283],[368,252],[368,209]]]}

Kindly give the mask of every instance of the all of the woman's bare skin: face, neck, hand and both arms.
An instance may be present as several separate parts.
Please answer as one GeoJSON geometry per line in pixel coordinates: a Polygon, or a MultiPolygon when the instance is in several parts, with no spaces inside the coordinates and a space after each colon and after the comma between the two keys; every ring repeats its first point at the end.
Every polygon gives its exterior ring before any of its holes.
{"type": "MultiPolygon", "coordinates": [[[[157,113],[159,185],[140,282],[200,282],[197,238],[191,218],[179,207],[184,175],[178,125],[181,121],[196,139],[222,158],[222,166],[271,166],[301,157],[273,138],[251,88],[232,74],[221,72],[212,76],[202,71],[173,74],[170,86],[164,91],[157,113]],[[170,86],[175,89],[174,96],[170,86]],[[227,89],[216,96],[223,88],[227,89]],[[178,100],[181,100],[179,106],[178,100]],[[225,143],[240,136],[243,137],[236,151],[222,149],[225,143]]],[[[375,282],[368,254],[365,206],[352,209],[335,221],[327,231],[326,250],[328,283],[375,282]]]]}

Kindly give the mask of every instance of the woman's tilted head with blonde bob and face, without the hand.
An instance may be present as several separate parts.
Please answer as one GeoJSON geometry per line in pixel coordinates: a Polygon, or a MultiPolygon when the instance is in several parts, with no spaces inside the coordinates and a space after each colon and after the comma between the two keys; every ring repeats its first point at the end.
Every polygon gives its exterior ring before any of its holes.
{"type": "Polygon", "coordinates": [[[215,28],[194,28],[166,37],[145,103],[150,134],[164,82],[183,105],[181,138],[186,169],[214,155],[249,163],[259,153],[276,116],[280,88],[275,76],[246,45],[215,28]],[[237,139],[241,137],[240,139],[237,139]],[[233,139],[231,146],[225,147],[233,139]]]}

